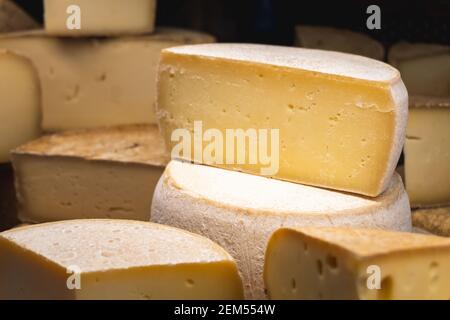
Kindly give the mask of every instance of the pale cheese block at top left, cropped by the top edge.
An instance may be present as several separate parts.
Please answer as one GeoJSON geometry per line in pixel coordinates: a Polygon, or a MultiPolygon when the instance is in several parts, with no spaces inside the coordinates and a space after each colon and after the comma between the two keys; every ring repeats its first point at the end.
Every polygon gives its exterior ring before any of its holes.
{"type": "Polygon", "coordinates": [[[44,8],[45,30],[52,35],[142,34],[155,28],[156,0],[45,0],[44,8]]]}

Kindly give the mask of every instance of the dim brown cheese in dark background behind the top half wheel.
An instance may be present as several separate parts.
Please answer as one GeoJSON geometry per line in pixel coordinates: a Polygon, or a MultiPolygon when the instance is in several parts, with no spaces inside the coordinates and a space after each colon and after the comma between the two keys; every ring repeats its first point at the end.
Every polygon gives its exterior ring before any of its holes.
{"type": "Polygon", "coordinates": [[[339,51],[384,60],[383,45],[371,37],[346,29],[322,26],[297,26],[298,47],[339,51]]]}

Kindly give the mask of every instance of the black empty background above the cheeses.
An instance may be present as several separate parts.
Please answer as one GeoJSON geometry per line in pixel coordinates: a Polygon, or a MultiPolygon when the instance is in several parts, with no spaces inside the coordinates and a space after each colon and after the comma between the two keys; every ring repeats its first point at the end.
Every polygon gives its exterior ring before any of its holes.
{"type": "MultiPolygon", "coordinates": [[[[42,1],[16,0],[42,21],[42,1]]],[[[157,24],[197,29],[222,42],[291,45],[296,24],[361,31],[394,42],[450,45],[450,0],[159,0],[157,24]],[[366,28],[366,9],[381,8],[381,30],[366,28]]]]}

